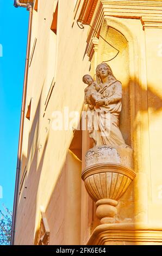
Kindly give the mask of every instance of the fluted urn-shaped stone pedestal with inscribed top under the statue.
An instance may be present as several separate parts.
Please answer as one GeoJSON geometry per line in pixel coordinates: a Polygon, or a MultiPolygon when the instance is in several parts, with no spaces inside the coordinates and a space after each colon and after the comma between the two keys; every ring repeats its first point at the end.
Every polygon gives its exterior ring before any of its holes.
{"type": "Polygon", "coordinates": [[[103,145],[86,153],[82,173],[86,191],[96,202],[96,216],[101,224],[116,223],[117,201],[135,178],[130,148],[103,145]]]}

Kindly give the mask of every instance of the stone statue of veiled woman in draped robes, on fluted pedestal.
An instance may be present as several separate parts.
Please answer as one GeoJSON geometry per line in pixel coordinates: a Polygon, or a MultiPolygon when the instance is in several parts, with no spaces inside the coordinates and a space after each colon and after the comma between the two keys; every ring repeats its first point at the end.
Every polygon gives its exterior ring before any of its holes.
{"type": "MultiPolygon", "coordinates": [[[[86,75],[89,76],[89,75],[86,75]]],[[[85,76],[84,76],[85,77],[85,76]]],[[[85,77],[87,80],[89,77],[85,77]]],[[[119,115],[122,108],[122,85],[116,80],[110,66],[107,63],[101,63],[96,68],[97,81],[88,81],[85,89],[91,96],[91,102],[88,103],[88,127],[90,137],[94,139],[95,146],[111,145],[127,148],[121,131],[119,129],[119,115]],[[97,88],[91,94],[91,87],[97,88]]],[[[92,80],[92,78],[91,78],[92,80]]],[[[83,80],[84,81],[84,80],[83,80]]],[[[85,96],[86,99],[86,96],[85,96]]]]}

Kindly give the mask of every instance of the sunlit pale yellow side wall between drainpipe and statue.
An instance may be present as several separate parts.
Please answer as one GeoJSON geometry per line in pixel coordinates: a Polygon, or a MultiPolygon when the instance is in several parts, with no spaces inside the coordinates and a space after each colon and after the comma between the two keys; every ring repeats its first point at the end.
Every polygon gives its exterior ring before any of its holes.
{"type": "MultiPolygon", "coordinates": [[[[40,224],[41,206],[47,212],[49,227],[55,230],[51,235],[50,243],[66,243],[65,241],[79,243],[79,235],[67,237],[64,234],[64,225],[69,225],[71,221],[71,215],[68,216],[68,212],[65,214],[64,207],[65,202],[69,200],[65,179],[68,169],[66,155],[73,132],[54,131],[52,114],[57,110],[64,113],[66,106],[69,111],[79,113],[82,111],[84,102],[82,76],[90,66],[88,57],[84,57],[88,29],[85,28],[84,31],[79,29],[76,20],[72,27],[74,1],[59,1],[58,30],[55,35],[50,28],[56,4],[55,0],[42,0],[41,3],[39,2],[38,12],[33,11],[30,53],[32,53],[35,38],[36,45],[30,63],[27,89],[26,112],[30,99],[32,99],[30,120],[25,119],[24,122],[22,153],[24,161],[21,175],[25,166],[27,166],[27,175],[18,199],[15,244],[19,245],[33,244],[36,229],[40,224]],[[57,52],[56,56],[55,52],[57,52]],[[45,112],[46,97],[53,77],[55,85],[45,112]],[[58,191],[53,194],[55,186],[58,187],[58,191]],[[55,239],[56,236],[61,238],[55,239]]],[[[78,186],[76,197],[79,197],[80,161],[73,156],[71,162],[76,167],[73,169],[69,167],[69,172],[72,170],[75,172],[74,176],[69,179],[79,179],[78,185],[76,184],[78,186]],[[74,178],[75,176],[77,177],[74,178]]],[[[76,206],[77,200],[74,199],[74,215],[76,207],[80,207],[76,206]]],[[[73,229],[74,234],[78,232],[78,227],[79,224],[76,224],[76,230],[73,229]]]]}

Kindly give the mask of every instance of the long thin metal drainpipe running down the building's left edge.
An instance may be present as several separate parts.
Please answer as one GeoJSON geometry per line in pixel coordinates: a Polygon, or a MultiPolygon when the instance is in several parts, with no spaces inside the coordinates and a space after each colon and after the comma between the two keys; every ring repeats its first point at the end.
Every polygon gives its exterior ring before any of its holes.
{"type": "Polygon", "coordinates": [[[23,125],[24,125],[24,112],[25,112],[25,107],[26,107],[28,69],[29,69],[29,54],[30,54],[30,41],[31,41],[31,34],[32,34],[32,17],[33,17],[33,3],[22,4],[22,3],[20,3],[20,0],[16,0],[16,4],[19,7],[25,7],[25,8],[27,8],[27,10],[29,10],[29,27],[28,27],[28,39],[27,39],[26,65],[25,65],[24,82],[23,82],[20,132],[19,132],[19,140],[18,140],[16,182],[15,182],[15,194],[14,194],[14,206],[13,206],[13,222],[12,222],[12,228],[11,228],[11,245],[14,245],[14,239],[15,239],[17,198],[18,198],[18,186],[19,186],[20,170],[21,170],[21,155],[22,155],[22,138],[23,138],[23,125]]]}

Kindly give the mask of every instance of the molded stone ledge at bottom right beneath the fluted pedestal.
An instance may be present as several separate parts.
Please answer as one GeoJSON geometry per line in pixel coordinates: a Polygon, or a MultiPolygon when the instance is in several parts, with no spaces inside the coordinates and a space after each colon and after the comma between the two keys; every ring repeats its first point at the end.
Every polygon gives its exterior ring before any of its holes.
{"type": "Polygon", "coordinates": [[[162,245],[162,227],[146,224],[101,224],[87,245],[162,245]]]}

